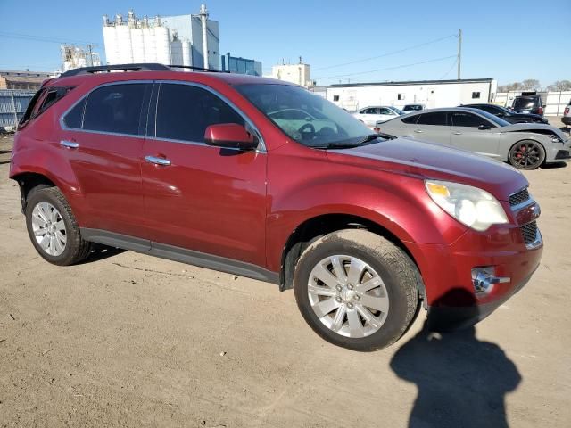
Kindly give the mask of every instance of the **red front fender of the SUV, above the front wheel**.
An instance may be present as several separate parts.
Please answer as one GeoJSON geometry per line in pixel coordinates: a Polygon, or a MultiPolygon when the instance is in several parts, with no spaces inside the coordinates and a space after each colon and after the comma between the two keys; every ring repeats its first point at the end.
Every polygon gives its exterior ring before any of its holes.
{"type": "MultiPolygon", "coordinates": [[[[452,243],[466,231],[434,204],[418,177],[367,169],[343,175],[324,175],[319,168],[302,170],[306,171],[305,177],[269,182],[270,270],[279,270],[285,244],[298,226],[327,214],[365,218],[407,247],[409,243],[411,247],[416,243],[452,243]]],[[[413,248],[410,251],[415,252],[413,248]]]]}

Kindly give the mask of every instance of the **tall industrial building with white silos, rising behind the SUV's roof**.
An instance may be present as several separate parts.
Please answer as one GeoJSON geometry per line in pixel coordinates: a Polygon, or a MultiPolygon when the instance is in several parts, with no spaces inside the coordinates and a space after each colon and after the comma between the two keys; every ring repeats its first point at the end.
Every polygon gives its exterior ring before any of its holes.
{"type": "Polygon", "coordinates": [[[208,19],[206,6],[198,15],[138,19],[129,11],[115,21],[103,16],[107,64],[159,62],[219,70],[219,25],[208,19]]]}

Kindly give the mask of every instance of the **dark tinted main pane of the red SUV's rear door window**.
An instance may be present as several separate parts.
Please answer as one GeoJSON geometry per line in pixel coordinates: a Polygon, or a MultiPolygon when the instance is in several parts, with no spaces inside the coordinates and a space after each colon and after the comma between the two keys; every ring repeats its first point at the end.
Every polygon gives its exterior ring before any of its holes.
{"type": "Polygon", "coordinates": [[[83,128],[138,135],[146,86],[136,83],[95,89],[87,97],[83,128]]]}

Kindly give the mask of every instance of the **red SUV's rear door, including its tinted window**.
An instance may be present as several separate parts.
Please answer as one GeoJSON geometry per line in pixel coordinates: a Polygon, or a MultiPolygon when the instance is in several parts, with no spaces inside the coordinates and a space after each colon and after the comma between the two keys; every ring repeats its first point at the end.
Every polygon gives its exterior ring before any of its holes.
{"type": "Polygon", "coordinates": [[[151,87],[96,87],[62,117],[60,150],[85,198],[83,227],[145,237],[140,159],[151,87]]]}

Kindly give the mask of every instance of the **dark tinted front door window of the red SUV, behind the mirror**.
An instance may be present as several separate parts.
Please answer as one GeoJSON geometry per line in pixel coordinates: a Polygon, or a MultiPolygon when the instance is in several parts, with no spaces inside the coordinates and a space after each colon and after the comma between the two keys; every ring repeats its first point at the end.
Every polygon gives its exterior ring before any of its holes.
{"type": "Polygon", "coordinates": [[[244,125],[244,119],[218,96],[203,88],[161,85],[157,105],[157,137],[203,143],[206,128],[218,123],[244,125]]]}

